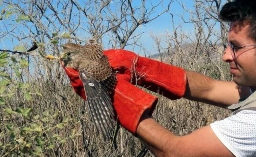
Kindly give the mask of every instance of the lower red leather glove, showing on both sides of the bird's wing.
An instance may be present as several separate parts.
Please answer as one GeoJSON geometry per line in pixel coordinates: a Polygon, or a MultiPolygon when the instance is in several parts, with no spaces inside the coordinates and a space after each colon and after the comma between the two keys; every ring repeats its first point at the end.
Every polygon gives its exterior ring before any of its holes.
{"type": "MultiPolygon", "coordinates": [[[[86,100],[79,72],[72,68],[64,68],[64,70],[76,94],[86,100]]],[[[151,116],[157,101],[157,97],[123,80],[122,74],[117,74],[117,85],[112,93],[112,102],[118,121],[125,129],[135,134],[141,115],[146,112],[151,116]]]]}

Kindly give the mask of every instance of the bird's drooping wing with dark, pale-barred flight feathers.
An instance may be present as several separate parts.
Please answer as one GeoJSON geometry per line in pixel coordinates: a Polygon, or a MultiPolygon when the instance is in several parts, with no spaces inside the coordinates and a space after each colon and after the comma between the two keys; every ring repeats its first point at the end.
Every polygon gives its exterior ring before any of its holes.
{"type": "Polygon", "coordinates": [[[86,68],[79,68],[79,76],[84,83],[85,94],[92,119],[97,131],[103,133],[104,138],[110,139],[110,131],[114,128],[114,110],[106,86],[106,80],[98,80],[90,72],[94,65],[88,64],[86,68]]]}

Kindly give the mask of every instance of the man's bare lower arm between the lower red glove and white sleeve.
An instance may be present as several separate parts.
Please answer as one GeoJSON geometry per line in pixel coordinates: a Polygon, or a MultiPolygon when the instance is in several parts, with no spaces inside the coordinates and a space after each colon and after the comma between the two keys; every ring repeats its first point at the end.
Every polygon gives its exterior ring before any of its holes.
{"type": "Polygon", "coordinates": [[[137,136],[156,156],[234,157],[210,126],[200,128],[185,136],[175,136],[154,119],[144,115],[139,123],[137,136]]]}

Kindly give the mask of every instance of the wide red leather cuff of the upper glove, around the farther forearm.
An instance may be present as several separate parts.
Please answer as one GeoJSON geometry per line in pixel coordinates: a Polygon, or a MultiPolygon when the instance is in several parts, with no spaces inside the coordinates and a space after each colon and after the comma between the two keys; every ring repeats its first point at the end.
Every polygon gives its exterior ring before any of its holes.
{"type": "Polygon", "coordinates": [[[139,85],[153,92],[157,92],[169,99],[179,99],[185,94],[186,73],[185,70],[155,61],[145,57],[138,57],[136,64],[139,85]]]}

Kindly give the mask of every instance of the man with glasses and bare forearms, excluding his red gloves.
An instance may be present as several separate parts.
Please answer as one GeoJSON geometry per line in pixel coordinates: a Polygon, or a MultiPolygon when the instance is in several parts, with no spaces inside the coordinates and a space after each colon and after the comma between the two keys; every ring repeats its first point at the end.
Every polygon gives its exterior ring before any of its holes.
{"type": "MultiPolygon", "coordinates": [[[[227,108],[251,90],[256,104],[256,3],[229,2],[222,8],[220,18],[230,22],[223,61],[229,63],[233,81],[186,71],[183,97],[227,108]]],[[[256,105],[181,137],[144,114],[137,136],[156,156],[256,156],[256,105]]]]}

